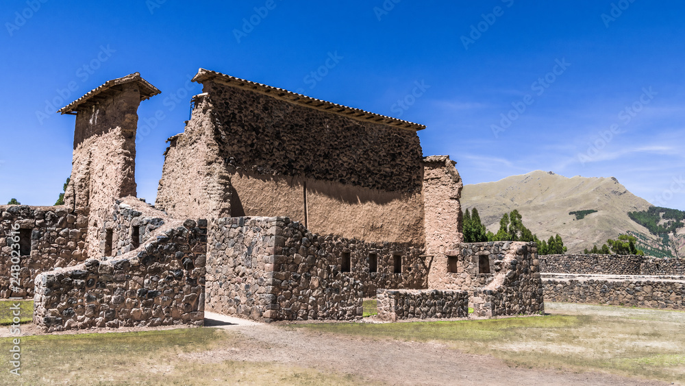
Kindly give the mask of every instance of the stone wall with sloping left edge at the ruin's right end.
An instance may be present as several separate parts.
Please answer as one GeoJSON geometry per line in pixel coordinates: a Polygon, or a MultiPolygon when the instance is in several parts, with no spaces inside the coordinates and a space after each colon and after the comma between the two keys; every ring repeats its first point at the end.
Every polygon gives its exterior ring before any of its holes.
{"type": "Polygon", "coordinates": [[[490,284],[475,289],[473,313],[482,317],[543,313],[543,282],[536,244],[497,241],[494,246],[503,254],[501,260],[495,261],[500,269],[490,284]]]}

